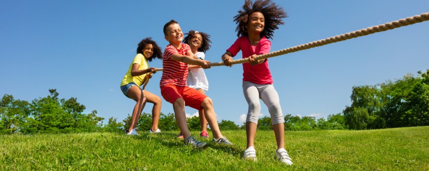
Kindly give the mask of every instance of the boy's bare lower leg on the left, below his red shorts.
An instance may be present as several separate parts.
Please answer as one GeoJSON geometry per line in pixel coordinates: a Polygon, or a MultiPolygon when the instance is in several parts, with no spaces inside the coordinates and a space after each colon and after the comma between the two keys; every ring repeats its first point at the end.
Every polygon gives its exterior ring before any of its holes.
{"type": "Polygon", "coordinates": [[[178,98],[174,103],[173,108],[175,111],[177,126],[179,127],[180,132],[182,132],[183,138],[186,141],[191,136],[191,134],[189,134],[188,122],[186,121],[185,101],[182,98],[178,98]]]}

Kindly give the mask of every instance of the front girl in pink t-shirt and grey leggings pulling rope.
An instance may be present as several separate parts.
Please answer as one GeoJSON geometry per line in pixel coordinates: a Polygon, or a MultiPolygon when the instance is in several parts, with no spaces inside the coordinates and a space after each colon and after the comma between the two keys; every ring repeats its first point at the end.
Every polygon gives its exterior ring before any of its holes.
{"type": "Polygon", "coordinates": [[[282,18],[287,15],[283,8],[275,5],[271,0],[246,0],[243,10],[238,11],[234,21],[238,24],[236,31],[239,37],[234,44],[222,55],[225,65],[232,65],[232,57],[240,50],[243,58],[249,58],[249,63],[243,63],[243,93],[249,104],[246,119],[247,146],[243,157],[256,160],[254,137],[260,113],[259,98],[267,105],[273,129],[277,150],[274,157],[281,162],[292,165],[292,159],[284,149],[284,118],[280,108],[279,97],[273,86],[273,78],[268,68],[268,60],[255,60],[260,54],[270,52],[273,30],[283,24],[282,18]],[[240,37],[241,35],[241,37],[240,37]],[[268,39],[267,39],[268,38],[268,39]]]}

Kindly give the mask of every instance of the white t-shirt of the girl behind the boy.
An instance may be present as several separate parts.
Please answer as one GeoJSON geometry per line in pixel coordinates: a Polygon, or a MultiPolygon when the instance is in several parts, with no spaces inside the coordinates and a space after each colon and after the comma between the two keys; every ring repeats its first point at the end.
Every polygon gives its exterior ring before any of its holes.
{"type": "MultiPolygon", "coordinates": [[[[205,54],[204,52],[196,52],[195,55],[204,60],[205,54]]],[[[203,89],[204,91],[209,90],[209,82],[207,81],[206,74],[204,73],[203,68],[193,68],[189,71],[188,79],[186,80],[186,84],[195,89],[203,89]]]]}

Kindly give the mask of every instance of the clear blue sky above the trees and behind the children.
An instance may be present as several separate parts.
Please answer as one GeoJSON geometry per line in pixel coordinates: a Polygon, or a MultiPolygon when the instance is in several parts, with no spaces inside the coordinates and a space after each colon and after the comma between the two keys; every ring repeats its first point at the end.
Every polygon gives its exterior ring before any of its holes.
{"type": "MultiPolygon", "coordinates": [[[[344,34],[429,11],[428,0],[277,0],[288,13],[275,30],[272,51],[344,34]]],[[[1,0],[0,95],[30,101],[56,88],[76,97],[85,113],[122,121],[135,102],[119,89],[137,43],[152,37],[164,49],[162,27],[174,19],[182,30],[206,32],[219,62],[234,43],[234,15],[241,0],[1,0]]],[[[326,118],[351,104],[352,86],[374,85],[429,68],[429,21],[269,59],[283,113],[326,118]]],[[[241,58],[241,53],[238,55],[241,58]]],[[[236,58],[236,59],[239,59],[236,58]]],[[[150,63],[162,67],[161,61],[150,63]]],[[[242,66],[205,70],[218,121],[241,125],[247,113],[242,66]]],[[[160,96],[161,72],[147,90],[160,96]]],[[[144,112],[151,111],[148,104],[144,112]]],[[[163,101],[163,113],[173,107],[163,101]]],[[[186,108],[193,115],[195,109],[186,108]]],[[[269,115],[267,107],[262,114],[269,115]]],[[[160,123],[162,124],[162,123],[160,123]]]]}

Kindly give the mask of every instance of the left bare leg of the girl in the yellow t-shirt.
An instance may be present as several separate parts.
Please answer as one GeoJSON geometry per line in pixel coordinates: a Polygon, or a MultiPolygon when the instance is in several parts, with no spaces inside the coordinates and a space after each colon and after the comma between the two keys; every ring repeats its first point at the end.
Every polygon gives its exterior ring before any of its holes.
{"type": "Polygon", "coordinates": [[[128,90],[128,96],[130,96],[134,101],[136,101],[136,106],[133,110],[133,115],[131,117],[131,126],[128,129],[130,132],[132,129],[136,128],[138,118],[140,117],[141,111],[143,110],[144,106],[146,105],[146,98],[143,96],[143,93],[138,86],[132,86],[128,90]]]}

